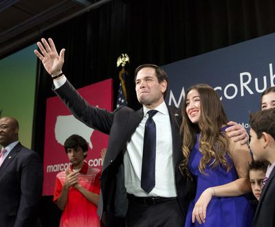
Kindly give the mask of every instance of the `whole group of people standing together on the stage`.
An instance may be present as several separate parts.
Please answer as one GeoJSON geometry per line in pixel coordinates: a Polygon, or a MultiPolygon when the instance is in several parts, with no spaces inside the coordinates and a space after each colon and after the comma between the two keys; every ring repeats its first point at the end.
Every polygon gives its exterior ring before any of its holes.
{"type": "MultiPolygon", "coordinates": [[[[62,71],[65,49],[58,54],[52,39],[37,44],[40,52],[34,53],[52,76],[56,95],[78,120],[109,134],[102,172],[85,162],[85,139],[72,135],[65,141],[72,165],[56,175],[60,226],[116,226],[115,217],[120,226],[275,226],[274,87],[250,115],[249,148],[248,133],[228,120],[209,85],[190,87],[179,110],[164,102],[166,72],[140,65],[135,90],[142,108],[107,111],[89,105],[69,83],[62,71]],[[251,192],[259,200],[256,211],[251,192]]],[[[18,133],[17,120],[0,118],[0,223],[35,226],[42,164],[18,133]]]]}

